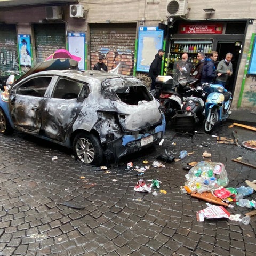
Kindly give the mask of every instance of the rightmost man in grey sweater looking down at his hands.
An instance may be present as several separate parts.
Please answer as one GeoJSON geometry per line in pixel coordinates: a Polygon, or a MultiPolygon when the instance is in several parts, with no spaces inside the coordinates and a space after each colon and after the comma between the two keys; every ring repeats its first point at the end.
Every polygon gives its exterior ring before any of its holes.
{"type": "Polygon", "coordinates": [[[221,60],[217,66],[217,73],[221,73],[219,77],[216,78],[216,83],[221,84],[225,87],[227,79],[233,74],[232,60],[233,54],[227,53],[224,60],[221,60]]]}

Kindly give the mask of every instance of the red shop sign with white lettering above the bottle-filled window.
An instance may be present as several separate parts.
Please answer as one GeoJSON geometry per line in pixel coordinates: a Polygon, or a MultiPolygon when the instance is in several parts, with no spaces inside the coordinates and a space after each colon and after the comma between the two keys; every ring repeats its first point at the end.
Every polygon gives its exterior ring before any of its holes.
{"type": "Polygon", "coordinates": [[[181,24],[179,34],[222,34],[222,24],[181,24]]]}

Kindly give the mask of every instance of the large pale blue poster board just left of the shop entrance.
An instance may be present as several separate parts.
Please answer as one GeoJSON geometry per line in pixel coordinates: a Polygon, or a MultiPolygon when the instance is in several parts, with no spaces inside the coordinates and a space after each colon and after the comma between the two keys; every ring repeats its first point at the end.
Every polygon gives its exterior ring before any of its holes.
{"type": "Polygon", "coordinates": [[[139,27],[137,71],[148,72],[158,50],[163,46],[164,30],[158,27],[139,27]]]}

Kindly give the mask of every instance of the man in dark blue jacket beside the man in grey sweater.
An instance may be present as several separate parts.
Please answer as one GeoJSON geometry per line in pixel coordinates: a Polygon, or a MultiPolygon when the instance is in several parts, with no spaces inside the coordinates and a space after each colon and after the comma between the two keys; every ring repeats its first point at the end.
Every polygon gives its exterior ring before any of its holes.
{"type": "Polygon", "coordinates": [[[221,76],[221,73],[216,73],[215,62],[218,58],[218,52],[212,51],[208,58],[204,60],[204,66],[202,69],[201,84],[213,83],[215,77],[221,76]]]}

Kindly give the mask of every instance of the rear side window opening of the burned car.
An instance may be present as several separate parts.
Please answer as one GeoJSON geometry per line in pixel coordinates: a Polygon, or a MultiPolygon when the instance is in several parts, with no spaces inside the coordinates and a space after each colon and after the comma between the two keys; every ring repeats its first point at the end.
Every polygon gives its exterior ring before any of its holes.
{"type": "Polygon", "coordinates": [[[89,87],[87,84],[61,78],[57,82],[52,94],[52,98],[57,99],[75,99],[88,95],[89,87]]]}

